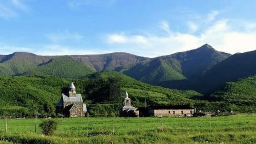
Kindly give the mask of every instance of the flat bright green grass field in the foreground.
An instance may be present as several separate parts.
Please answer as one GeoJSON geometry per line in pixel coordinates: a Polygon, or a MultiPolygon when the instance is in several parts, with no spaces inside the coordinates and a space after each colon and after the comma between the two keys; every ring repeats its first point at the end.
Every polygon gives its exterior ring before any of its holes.
{"type": "MultiPolygon", "coordinates": [[[[256,121],[252,114],[199,118],[64,118],[53,136],[44,136],[34,119],[0,119],[1,140],[12,143],[256,143],[256,121]],[[113,135],[114,129],[114,135],[113,135]]],[[[41,123],[43,119],[38,119],[41,123]]],[[[1,142],[0,142],[1,143],[1,142]]],[[[5,142],[4,142],[5,143],[5,142]]]]}

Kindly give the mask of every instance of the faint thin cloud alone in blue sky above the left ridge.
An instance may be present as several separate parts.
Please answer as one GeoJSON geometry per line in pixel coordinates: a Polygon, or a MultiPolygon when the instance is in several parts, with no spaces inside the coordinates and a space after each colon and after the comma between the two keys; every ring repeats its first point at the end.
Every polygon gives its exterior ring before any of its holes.
{"type": "Polygon", "coordinates": [[[78,33],[70,33],[69,31],[65,31],[62,33],[47,33],[45,36],[52,42],[62,42],[66,40],[72,41],[80,41],[83,36],[78,33]]]}

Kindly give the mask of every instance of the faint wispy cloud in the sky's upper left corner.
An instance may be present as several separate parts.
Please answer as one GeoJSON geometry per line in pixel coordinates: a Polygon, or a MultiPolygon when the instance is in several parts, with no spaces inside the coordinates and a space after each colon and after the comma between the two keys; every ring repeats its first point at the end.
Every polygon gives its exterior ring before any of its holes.
{"type": "Polygon", "coordinates": [[[22,0],[0,1],[0,17],[9,19],[19,16],[19,11],[28,12],[28,7],[22,0]]]}

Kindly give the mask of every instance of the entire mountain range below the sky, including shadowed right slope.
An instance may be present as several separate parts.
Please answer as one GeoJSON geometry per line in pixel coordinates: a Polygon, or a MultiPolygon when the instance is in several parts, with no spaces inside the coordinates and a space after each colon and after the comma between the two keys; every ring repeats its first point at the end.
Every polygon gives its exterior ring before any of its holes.
{"type": "Polygon", "coordinates": [[[256,51],[234,55],[209,44],[171,55],[146,58],[129,53],[41,56],[15,52],[0,55],[0,75],[53,75],[81,78],[117,71],[151,85],[210,94],[225,82],[256,74],[256,51]]]}

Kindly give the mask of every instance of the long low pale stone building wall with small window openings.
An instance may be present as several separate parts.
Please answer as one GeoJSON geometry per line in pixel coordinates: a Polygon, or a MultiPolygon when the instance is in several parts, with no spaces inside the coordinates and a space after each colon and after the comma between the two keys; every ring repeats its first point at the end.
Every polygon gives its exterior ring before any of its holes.
{"type": "Polygon", "coordinates": [[[151,116],[164,116],[164,117],[169,117],[169,116],[182,116],[184,117],[185,114],[193,114],[194,109],[188,109],[188,110],[149,110],[149,114],[151,116]]]}

